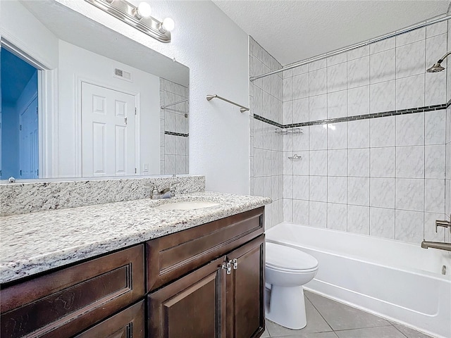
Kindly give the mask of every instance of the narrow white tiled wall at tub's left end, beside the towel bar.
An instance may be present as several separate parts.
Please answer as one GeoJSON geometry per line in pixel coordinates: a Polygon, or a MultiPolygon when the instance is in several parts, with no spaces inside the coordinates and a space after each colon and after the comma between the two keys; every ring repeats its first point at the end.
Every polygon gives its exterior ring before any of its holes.
{"type": "MultiPolygon", "coordinates": [[[[280,63],[249,37],[249,75],[280,68],[280,63]]],[[[254,114],[281,124],[282,100],[282,73],[249,82],[250,193],[273,199],[265,208],[266,228],[283,220],[283,136],[276,134],[274,125],[255,119],[254,114]]]]}

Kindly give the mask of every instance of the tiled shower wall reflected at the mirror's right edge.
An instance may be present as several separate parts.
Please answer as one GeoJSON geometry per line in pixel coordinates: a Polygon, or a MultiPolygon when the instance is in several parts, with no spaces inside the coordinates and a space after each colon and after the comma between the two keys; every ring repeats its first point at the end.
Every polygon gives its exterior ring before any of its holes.
{"type": "MultiPolygon", "coordinates": [[[[181,84],[160,77],[160,104],[166,106],[188,98],[189,90],[181,84]]],[[[187,174],[188,163],[188,102],[161,109],[160,173],[187,174]]]]}

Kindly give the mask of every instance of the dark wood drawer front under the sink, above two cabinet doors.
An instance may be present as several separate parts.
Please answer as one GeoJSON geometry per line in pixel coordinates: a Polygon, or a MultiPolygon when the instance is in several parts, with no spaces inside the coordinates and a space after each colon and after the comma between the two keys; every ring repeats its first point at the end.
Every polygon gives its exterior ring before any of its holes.
{"type": "Polygon", "coordinates": [[[147,242],[147,290],[185,275],[264,232],[264,208],[147,242]]]}

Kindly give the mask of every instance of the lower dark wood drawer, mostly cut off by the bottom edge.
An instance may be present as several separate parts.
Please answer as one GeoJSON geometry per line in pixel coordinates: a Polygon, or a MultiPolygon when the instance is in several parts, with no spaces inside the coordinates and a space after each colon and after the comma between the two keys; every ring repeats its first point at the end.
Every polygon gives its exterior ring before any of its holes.
{"type": "Polygon", "coordinates": [[[144,301],[77,334],[74,338],[144,338],[144,301]]]}

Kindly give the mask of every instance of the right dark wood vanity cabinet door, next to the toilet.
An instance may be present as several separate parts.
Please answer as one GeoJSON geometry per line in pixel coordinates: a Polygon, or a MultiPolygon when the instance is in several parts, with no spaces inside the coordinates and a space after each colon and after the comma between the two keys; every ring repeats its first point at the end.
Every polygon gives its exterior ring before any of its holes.
{"type": "Polygon", "coordinates": [[[226,337],[260,337],[265,329],[264,234],[227,254],[237,259],[226,277],[226,337]]]}

